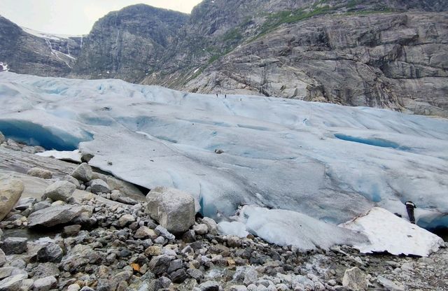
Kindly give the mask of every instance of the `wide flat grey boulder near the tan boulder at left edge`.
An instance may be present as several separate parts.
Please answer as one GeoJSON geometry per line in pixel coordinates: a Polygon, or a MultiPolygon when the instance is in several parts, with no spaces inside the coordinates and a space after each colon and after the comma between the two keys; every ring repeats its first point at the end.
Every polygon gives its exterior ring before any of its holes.
{"type": "Polygon", "coordinates": [[[31,213],[28,217],[28,227],[53,227],[70,222],[83,212],[81,206],[51,206],[31,213]]]}

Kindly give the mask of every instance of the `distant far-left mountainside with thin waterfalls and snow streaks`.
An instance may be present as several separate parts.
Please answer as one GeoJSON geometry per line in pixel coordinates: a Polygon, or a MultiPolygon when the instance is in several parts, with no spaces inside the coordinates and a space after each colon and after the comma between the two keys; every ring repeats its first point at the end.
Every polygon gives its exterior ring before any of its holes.
{"type": "Polygon", "coordinates": [[[80,53],[81,38],[36,36],[1,16],[0,36],[0,62],[16,73],[66,76],[80,53]]]}

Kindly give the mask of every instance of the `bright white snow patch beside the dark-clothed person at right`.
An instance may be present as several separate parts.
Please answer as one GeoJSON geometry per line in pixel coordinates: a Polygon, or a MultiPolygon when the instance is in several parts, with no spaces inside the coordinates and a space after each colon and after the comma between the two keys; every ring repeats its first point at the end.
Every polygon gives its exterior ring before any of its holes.
{"type": "Polygon", "coordinates": [[[342,226],[367,235],[371,243],[356,246],[362,253],[387,251],[392,255],[427,257],[444,246],[439,236],[379,207],[342,226]]]}

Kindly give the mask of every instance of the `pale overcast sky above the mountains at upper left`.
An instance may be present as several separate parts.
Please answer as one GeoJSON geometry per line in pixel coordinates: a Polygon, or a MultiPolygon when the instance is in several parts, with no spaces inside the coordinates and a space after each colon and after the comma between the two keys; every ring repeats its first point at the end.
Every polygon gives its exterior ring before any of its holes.
{"type": "Polygon", "coordinates": [[[0,15],[15,24],[53,34],[88,34],[107,13],[145,3],[190,13],[202,0],[0,0],[0,15]]]}

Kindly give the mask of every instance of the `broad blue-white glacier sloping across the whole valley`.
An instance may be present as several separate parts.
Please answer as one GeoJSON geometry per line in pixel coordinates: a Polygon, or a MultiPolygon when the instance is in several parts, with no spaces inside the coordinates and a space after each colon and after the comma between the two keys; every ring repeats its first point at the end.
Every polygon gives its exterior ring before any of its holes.
{"type": "Polygon", "coordinates": [[[448,227],[443,118],[1,72],[0,131],[78,148],[148,189],[190,192],[214,218],[250,204],[337,225],[374,206],[407,218],[411,200],[417,224],[448,227]]]}

